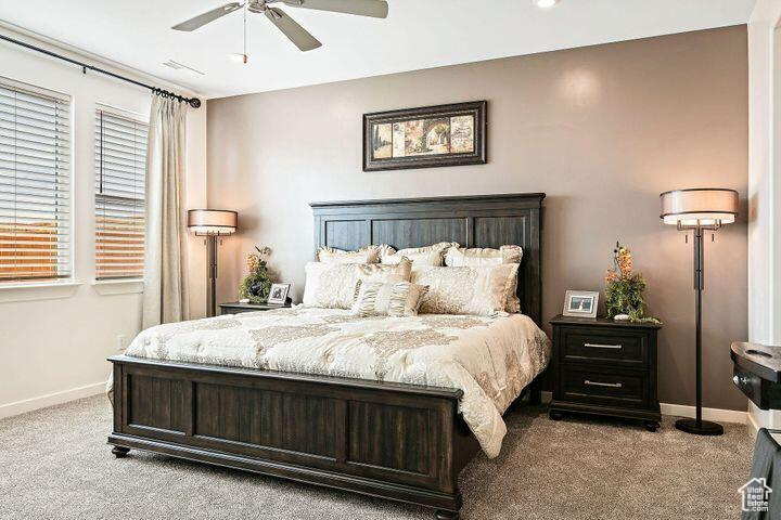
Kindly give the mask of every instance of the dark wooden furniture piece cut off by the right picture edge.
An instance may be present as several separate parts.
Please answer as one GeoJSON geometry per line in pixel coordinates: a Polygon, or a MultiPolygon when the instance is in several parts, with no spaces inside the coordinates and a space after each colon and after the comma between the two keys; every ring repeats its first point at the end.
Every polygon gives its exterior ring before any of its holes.
{"type": "Polygon", "coordinates": [[[735,341],[732,382],[761,410],[781,408],[781,347],[735,341]]]}

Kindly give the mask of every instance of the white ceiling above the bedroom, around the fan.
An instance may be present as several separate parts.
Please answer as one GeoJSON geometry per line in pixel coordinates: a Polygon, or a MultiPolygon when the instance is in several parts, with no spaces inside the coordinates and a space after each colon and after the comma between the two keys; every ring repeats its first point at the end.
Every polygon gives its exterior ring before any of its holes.
{"type": "Polygon", "coordinates": [[[388,0],[387,20],[282,8],[323,47],[300,52],[249,13],[247,65],[228,60],[242,51],[241,12],[194,32],[169,29],[227,2],[0,0],[0,20],[221,98],[743,24],[755,0],[560,0],[547,10],[533,0],[388,0]]]}

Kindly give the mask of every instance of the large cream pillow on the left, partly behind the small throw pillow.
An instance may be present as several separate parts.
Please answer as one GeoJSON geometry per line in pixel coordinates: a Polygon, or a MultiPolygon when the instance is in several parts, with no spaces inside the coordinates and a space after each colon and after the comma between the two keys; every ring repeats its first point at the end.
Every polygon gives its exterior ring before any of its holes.
{"type": "Polygon", "coordinates": [[[308,262],[305,268],[304,306],[350,309],[358,281],[409,282],[411,269],[412,262],[406,258],[397,265],[308,262]]]}

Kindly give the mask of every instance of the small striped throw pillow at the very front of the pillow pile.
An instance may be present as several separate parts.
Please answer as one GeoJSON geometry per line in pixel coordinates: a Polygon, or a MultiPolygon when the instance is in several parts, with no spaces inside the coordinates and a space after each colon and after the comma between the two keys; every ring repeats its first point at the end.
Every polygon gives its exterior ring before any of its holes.
{"type": "Polygon", "coordinates": [[[417,316],[423,297],[428,291],[424,285],[397,282],[358,282],[358,297],[353,304],[353,314],[361,317],[417,316]]]}

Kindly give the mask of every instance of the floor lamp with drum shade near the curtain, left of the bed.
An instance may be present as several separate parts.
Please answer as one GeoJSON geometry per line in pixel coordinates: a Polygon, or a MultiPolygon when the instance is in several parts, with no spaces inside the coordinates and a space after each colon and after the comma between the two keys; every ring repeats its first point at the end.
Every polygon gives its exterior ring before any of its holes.
{"type": "Polygon", "coordinates": [[[239,213],[223,209],[191,209],[188,211],[188,229],[196,236],[205,236],[206,240],[206,315],[216,312],[217,289],[217,247],[225,235],[236,231],[239,213]]]}

